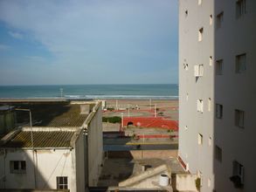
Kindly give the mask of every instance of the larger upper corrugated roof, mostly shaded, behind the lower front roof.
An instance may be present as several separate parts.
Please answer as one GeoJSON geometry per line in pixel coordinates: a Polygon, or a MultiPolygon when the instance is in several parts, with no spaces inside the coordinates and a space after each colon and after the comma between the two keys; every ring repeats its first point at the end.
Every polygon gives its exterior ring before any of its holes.
{"type": "MultiPolygon", "coordinates": [[[[81,127],[88,114],[80,113],[79,104],[70,104],[69,101],[56,102],[12,102],[8,103],[16,109],[30,109],[33,127],[81,127]]],[[[93,104],[90,105],[92,108],[93,104]]],[[[30,122],[29,113],[16,111],[17,124],[21,126],[30,122]]]]}

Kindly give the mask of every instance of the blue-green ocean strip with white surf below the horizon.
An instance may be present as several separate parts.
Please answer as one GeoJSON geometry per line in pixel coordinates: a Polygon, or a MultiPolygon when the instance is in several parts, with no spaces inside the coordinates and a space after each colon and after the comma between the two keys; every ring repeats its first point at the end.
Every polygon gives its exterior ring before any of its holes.
{"type": "Polygon", "coordinates": [[[9,99],[178,99],[178,85],[61,85],[0,86],[0,98],[9,99]]]}

